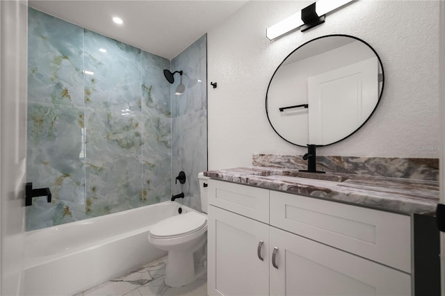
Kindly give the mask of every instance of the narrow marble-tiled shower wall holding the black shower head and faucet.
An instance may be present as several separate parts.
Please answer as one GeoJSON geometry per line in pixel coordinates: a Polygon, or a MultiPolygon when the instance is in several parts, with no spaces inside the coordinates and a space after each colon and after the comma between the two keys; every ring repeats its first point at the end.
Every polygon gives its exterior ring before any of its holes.
{"type": "Polygon", "coordinates": [[[201,210],[197,174],[207,170],[207,35],[173,58],[171,70],[182,70],[186,90],[176,95],[180,83],[175,74],[172,99],[172,194],[184,192],[183,202],[201,210]],[[186,183],[175,183],[179,172],[186,173],[186,183]]]}

